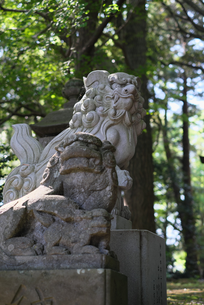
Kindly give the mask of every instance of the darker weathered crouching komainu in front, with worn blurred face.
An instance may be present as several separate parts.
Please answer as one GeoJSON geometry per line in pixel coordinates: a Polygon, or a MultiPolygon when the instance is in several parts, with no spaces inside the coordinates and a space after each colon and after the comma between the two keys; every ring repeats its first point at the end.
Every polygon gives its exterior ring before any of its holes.
{"type": "Polygon", "coordinates": [[[118,187],[114,146],[77,132],[56,150],[41,185],[0,208],[0,257],[5,264],[14,264],[15,256],[114,257],[109,251],[110,212],[118,187]]]}

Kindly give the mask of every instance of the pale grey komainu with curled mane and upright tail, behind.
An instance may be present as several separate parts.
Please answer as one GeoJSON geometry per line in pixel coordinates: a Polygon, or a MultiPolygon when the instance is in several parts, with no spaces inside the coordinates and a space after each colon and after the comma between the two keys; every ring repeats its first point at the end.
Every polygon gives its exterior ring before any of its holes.
{"type": "Polygon", "coordinates": [[[146,114],[144,99],[139,92],[140,79],[126,73],[109,74],[98,70],[84,77],[84,84],[86,93],[74,106],[70,127],[56,136],[45,149],[32,138],[27,124],[13,125],[15,133],[11,148],[21,165],[8,175],[4,203],[20,198],[40,185],[46,164],[55,153],[55,146],[63,145],[68,135],[87,132],[101,141],[109,141],[116,148],[118,193],[112,214],[129,219],[130,211],[123,204],[121,190],[132,186],[132,178],[125,168],[135,153],[137,136],[146,127],[143,121],[146,114]]]}

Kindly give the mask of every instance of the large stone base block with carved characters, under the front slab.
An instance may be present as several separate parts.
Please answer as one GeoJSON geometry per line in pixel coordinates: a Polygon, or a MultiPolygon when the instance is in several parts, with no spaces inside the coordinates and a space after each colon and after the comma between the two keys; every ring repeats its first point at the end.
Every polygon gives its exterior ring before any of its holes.
{"type": "Polygon", "coordinates": [[[127,305],[127,277],[110,269],[0,271],[0,305],[127,305]]]}

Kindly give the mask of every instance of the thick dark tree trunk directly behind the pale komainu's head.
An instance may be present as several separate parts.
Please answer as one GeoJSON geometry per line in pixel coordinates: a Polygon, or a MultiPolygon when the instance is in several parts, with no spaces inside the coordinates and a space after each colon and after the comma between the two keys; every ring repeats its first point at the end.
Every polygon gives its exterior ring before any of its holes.
{"type": "MultiPolygon", "coordinates": [[[[132,0],[132,5],[134,2],[135,0],[132,0]]],[[[124,41],[123,52],[129,67],[128,72],[141,77],[141,95],[145,100],[145,108],[148,109],[150,96],[146,77],[147,11],[145,4],[145,0],[139,2],[127,25],[121,31],[120,39],[124,41]]],[[[149,115],[145,117],[145,122],[147,128],[138,137],[135,155],[127,169],[133,179],[133,185],[130,190],[125,191],[125,201],[132,213],[132,227],[155,233],[152,137],[149,115]]]]}

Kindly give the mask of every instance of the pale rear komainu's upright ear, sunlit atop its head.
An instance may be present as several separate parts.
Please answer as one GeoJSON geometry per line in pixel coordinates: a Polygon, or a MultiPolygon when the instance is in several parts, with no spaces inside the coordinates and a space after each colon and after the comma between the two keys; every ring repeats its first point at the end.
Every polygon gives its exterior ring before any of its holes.
{"type": "Polygon", "coordinates": [[[83,77],[86,90],[90,88],[97,88],[100,84],[108,85],[109,74],[110,73],[108,71],[96,70],[89,73],[87,77],[83,77]]]}

